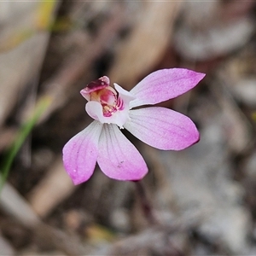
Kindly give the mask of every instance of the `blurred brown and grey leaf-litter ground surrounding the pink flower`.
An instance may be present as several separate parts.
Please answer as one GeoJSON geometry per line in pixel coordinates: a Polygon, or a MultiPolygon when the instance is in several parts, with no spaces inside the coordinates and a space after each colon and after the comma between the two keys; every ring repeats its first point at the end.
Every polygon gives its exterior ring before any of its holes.
{"type": "Polygon", "coordinates": [[[0,255],[256,255],[255,15],[253,0],[0,2],[0,255]],[[125,132],[150,224],[134,183],[96,167],[74,186],[61,150],[91,122],[91,80],[131,90],[172,67],[207,73],[160,105],[201,141],[160,151],[125,132]]]}

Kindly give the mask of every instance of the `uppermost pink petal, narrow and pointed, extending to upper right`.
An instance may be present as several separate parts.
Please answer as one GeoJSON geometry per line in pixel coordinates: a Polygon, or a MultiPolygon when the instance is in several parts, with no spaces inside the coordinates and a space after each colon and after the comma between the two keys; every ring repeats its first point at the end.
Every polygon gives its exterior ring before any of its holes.
{"type": "Polygon", "coordinates": [[[130,103],[130,108],[156,104],[180,96],[194,88],[204,76],[204,73],[183,68],[161,69],[150,73],[131,90],[136,99],[130,103]]]}

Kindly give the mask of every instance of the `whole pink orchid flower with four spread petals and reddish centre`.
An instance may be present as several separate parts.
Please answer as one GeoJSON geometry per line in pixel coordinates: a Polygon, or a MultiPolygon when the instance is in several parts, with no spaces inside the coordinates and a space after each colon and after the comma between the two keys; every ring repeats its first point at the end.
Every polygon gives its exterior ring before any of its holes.
{"type": "Polygon", "coordinates": [[[95,119],[63,148],[64,166],[74,184],[87,181],[96,162],[108,177],[136,181],[148,172],[137,148],[119,130],[125,128],[154,148],[181,150],[198,142],[199,132],[187,116],[168,108],[146,107],[182,95],[205,74],[183,68],[149,74],[131,91],[114,88],[104,76],[81,90],[85,109],[95,119]],[[132,109],[135,108],[135,109],[132,109]]]}

